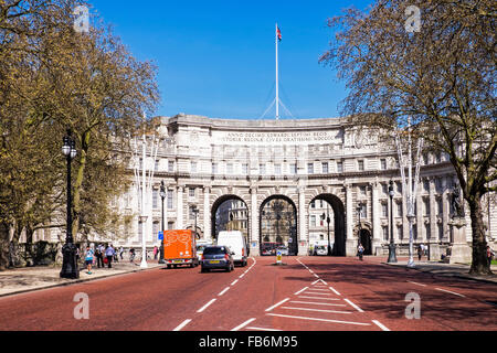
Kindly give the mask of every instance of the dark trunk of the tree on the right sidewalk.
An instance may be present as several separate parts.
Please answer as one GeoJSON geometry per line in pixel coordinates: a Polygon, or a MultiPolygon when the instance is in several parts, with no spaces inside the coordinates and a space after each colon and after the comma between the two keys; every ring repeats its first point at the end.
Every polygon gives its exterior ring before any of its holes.
{"type": "Polygon", "coordinates": [[[487,240],[485,239],[482,201],[475,195],[468,200],[468,204],[473,232],[473,260],[469,274],[491,275],[490,264],[487,259],[487,240]]]}

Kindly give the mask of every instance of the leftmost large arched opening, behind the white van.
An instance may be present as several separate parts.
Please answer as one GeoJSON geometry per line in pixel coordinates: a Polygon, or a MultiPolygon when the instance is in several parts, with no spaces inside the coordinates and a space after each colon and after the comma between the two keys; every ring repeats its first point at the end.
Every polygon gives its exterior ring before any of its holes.
{"type": "Polygon", "coordinates": [[[240,231],[248,244],[248,207],[245,201],[236,195],[224,195],[219,197],[211,210],[212,239],[223,231],[240,231]]]}

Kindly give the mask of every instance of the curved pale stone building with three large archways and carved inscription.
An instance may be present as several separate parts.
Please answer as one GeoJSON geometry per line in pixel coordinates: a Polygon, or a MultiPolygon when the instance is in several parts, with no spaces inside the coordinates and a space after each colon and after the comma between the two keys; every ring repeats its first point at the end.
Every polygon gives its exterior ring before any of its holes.
{"type": "MultiPolygon", "coordinates": [[[[391,231],[398,253],[408,250],[396,148],[358,130],[346,118],[237,120],[179,114],[154,121],[156,128],[146,141],[156,141],[157,149],[147,149],[145,161],[139,154],[131,161],[134,183],[114,203],[129,220],[117,231],[120,236],[114,245],[139,249],[145,236],[147,248],[159,246],[163,197],[165,228],[197,225],[201,239],[239,229],[254,256],[267,244],[283,244],[289,255],[308,255],[328,239],[336,256],[355,256],[359,242],[366,254],[384,255],[391,231]],[[136,188],[142,168],[154,171],[145,197],[145,223],[136,188]]],[[[142,142],[136,141],[139,148],[142,142]]],[[[422,154],[420,175],[414,244],[429,245],[440,257],[453,242],[451,194],[456,178],[447,156],[432,152],[422,154]]],[[[495,244],[497,207],[487,200],[485,208],[487,240],[495,244]]],[[[468,213],[466,223],[470,245],[468,213]]],[[[49,240],[43,235],[38,238],[49,240]]],[[[107,238],[97,235],[94,240],[107,238]]]]}

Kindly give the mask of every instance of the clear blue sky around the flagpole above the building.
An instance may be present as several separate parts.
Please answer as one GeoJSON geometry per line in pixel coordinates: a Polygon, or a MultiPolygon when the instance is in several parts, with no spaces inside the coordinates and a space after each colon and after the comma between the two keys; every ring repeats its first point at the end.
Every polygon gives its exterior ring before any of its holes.
{"type": "MultiPolygon", "coordinates": [[[[89,0],[130,52],[159,69],[156,115],[258,119],[275,96],[275,23],[281,98],[295,118],[339,117],[343,83],[318,63],[327,19],[371,1],[89,0]]],[[[289,118],[281,109],[282,118],[289,118]],[[286,115],[286,116],[285,116],[286,115]]],[[[274,118],[272,109],[266,118],[274,118]]]]}

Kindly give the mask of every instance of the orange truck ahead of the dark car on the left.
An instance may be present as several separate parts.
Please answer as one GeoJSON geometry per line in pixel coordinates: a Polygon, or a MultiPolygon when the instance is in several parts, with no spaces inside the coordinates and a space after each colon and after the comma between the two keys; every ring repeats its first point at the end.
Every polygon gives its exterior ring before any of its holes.
{"type": "Polygon", "coordinates": [[[165,231],[162,242],[163,260],[168,268],[176,268],[178,265],[199,266],[195,237],[192,231],[165,231]]]}

